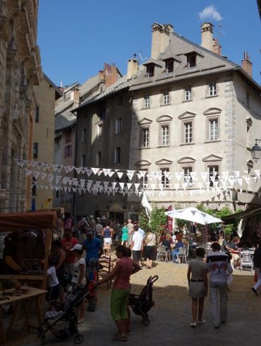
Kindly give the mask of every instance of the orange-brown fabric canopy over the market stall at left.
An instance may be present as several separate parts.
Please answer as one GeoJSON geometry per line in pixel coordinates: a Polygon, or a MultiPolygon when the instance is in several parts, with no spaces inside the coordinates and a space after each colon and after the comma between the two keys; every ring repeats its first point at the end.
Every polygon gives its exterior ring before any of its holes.
{"type": "Polygon", "coordinates": [[[0,232],[28,229],[49,229],[56,225],[56,212],[3,213],[0,214],[0,232]]]}

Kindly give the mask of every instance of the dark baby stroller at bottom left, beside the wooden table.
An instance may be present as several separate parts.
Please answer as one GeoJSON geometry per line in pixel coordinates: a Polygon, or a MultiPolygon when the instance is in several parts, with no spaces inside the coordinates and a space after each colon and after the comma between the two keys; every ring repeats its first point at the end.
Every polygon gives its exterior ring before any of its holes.
{"type": "Polygon", "coordinates": [[[51,330],[51,333],[59,340],[75,335],[75,344],[83,342],[83,335],[78,333],[78,318],[75,314],[75,308],[78,308],[89,294],[90,291],[87,290],[86,286],[78,287],[68,294],[63,304],[52,303],[56,310],[47,311],[44,314],[44,321],[38,328],[38,338],[41,339],[42,345],[45,344],[48,330],[51,330]]]}

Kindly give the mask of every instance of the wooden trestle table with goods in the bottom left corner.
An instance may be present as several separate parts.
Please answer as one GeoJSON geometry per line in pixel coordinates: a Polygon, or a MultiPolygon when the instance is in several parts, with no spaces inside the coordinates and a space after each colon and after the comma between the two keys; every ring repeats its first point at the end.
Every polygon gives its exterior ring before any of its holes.
{"type": "MultiPolygon", "coordinates": [[[[29,292],[25,294],[20,294],[18,296],[8,296],[8,299],[0,300],[0,340],[1,340],[0,345],[6,345],[6,338],[8,338],[8,335],[10,335],[11,333],[13,322],[15,321],[16,317],[18,316],[20,312],[20,307],[22,305],[22,302],[27,301],[25,304],[25,311],[23,313],[24,321],[23,321],[23,327],[19,336],[19,340],[23,339],[25,332],[28,329],[32,306],[34,302],[35,302],[35,309],[37,312],[38,325],[40,325],[40,323],[42,322],[41,298],[44,294],[46,294],[47,291],[39,290],[38,288],[30,287],[30,286],[23,286],[21,288],[29,290],[29,292]],[[5,304],[14,304],[13,315],[11,317],[11,321],[8,325],[6,333],[4,331],[4,323],[2,318],[2,307],[5,304]]],[[[14,291],[15,291],[14,289],[11,289],[11,290],[4,290],[3,292],[14,292],[14,291]]]]}

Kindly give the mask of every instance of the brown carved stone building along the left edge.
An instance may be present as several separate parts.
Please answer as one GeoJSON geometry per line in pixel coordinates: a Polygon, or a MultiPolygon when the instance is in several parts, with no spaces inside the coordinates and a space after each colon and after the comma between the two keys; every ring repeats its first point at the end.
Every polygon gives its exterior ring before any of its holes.
{"type": "Polygon", "coordinates": [[[31,184],[16,159],[32,160],[33,86],[42,77],[37,0],[0,1],[0,212],[30,208],[31,184]]]}

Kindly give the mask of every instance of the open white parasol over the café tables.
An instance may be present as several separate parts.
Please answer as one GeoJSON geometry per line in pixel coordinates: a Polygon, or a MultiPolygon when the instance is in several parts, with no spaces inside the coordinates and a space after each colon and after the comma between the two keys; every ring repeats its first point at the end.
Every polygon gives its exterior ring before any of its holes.
{"type": "Polygon", "coordinates": [[[197,222],[200,225],[208,225],[210,223],[222,222],[222,220],[220,220],[219,218],[204,213],[201,210],[198,210],[197,208],[193,207],[167,211],[165,215],[175,217],[176,219],[197,222]]]}

